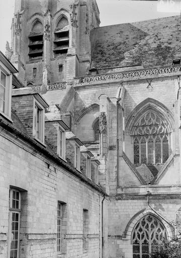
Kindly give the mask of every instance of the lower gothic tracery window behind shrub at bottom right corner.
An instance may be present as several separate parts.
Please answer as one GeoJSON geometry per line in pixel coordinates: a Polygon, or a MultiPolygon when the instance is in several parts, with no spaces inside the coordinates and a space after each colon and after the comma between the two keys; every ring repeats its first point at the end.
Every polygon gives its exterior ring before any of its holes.
{"type": "Polygon", "coordinates": [[[152,215],[146,215],[133,231],[133,258],[149,258],[158,244],[166,240],[163,224],[152,215]]]}

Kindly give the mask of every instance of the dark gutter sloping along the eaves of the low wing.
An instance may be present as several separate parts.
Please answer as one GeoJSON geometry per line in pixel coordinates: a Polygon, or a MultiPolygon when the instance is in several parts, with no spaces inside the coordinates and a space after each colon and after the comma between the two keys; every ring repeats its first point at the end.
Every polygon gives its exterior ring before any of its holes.
{"type": "Polygon", "coordinates": [[[29,142],[33,147],[36,147],[36,150],[40,151],[41,153],[46,155],[49,159],[52,159],[58,165],[61,165],[66,170],[68,170],[72,174],[76,175],[78,178],[80,178],[81,181],[87,183],[88,185],[91,185],[93,188],[95,188],[96,190],[101,192],[104,196],[108,196],[106,191],[101,186],[98,186],[92,180],[86,178],[83,174],[81,174],[76,169],[71,167],[68,163],[63,161],[61,158],[57,157],[55,154],[49,152],[45,147],[43,147],[41,144],[39,144],[33,138],[31,138],[28,135],[20,132],[17,128],[15,128],[12,124],[8,123],[6,120],[0,119],[0,125],[2,125],[7,131],[9,131],[11,133],[14,133],[16,136],[20,137],[21,139],[29,142]]]}

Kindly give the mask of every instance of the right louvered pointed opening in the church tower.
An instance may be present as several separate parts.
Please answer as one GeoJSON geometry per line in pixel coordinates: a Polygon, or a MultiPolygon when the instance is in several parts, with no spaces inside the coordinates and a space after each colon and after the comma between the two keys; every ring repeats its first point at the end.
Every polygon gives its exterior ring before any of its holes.
{"type": "Polygon", "coordinates": [[[69,24],[68,20],[65,17],[62,17],[54,32],[54,54],[55,56],[66,54],[69,47],[69,24]]]}

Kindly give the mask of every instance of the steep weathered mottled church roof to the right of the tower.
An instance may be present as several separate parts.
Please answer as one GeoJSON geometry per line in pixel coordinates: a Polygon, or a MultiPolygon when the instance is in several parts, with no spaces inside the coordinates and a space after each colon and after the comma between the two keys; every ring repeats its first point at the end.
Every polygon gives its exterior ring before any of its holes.
{"type": "Polygon", "coordinates": [[[180,17],[96,28],[91,33],[94,66],[172,65],[181,56],[180,17]]]}

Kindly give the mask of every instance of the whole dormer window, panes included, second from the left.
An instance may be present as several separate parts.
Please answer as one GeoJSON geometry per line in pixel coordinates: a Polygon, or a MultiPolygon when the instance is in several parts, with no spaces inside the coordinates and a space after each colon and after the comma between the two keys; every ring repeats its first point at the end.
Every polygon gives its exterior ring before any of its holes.
{"type": "Polygon", "coordinates": [[[35,101],[34,104],[34,121],[33,121],[33,136],[44,143],[44,108],[35,101]]]}

